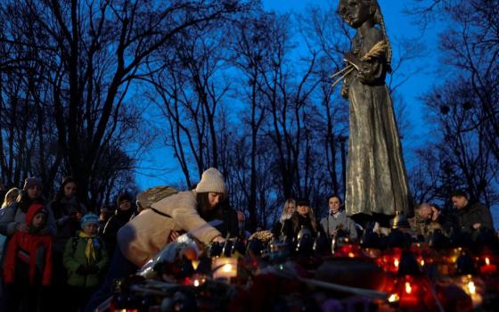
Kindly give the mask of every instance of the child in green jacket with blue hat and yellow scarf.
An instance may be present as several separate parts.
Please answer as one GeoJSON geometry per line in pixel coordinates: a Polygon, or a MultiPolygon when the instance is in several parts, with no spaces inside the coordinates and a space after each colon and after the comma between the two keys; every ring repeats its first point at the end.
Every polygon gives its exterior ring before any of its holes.
{"type": "Polygon", "coordinates": [[[80,221],[83,231],[66,243],[63,263],[68,270],[68,285],[73,304],[71,311],[84,308],[97,286],[108,264],[108,255],[102,240],[97,236],[99,217],[89,213],[80,221]]]}

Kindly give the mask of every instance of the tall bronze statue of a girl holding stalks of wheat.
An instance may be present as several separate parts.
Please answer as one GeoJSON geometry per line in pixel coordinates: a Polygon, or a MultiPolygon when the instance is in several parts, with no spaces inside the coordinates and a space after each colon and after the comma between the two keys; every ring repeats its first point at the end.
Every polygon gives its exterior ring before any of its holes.
{"type": "Polygon", "coordinates": [[[389,89],[391,47],[376,0],[340,0],[339,14],[356,29],[341,95],[349,99],[347,214],[391,218],[413,215],[389,89]]]}

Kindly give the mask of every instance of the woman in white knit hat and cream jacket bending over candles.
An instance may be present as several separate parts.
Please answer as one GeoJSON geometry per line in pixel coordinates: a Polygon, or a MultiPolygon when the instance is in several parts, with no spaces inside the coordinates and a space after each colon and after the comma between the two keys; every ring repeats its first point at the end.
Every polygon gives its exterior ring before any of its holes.
{"type": "Polygon", "coordinates": [[[118,232],[118,248],[101,288],[86,306],[93,311],[110,296],[110,285],[116,278],[135,273],[168,243],[173,231],[190,232],[200,242],[223,242],[216,228],[203,216],[216,209],[225,197],[224,177],[216,168],[203,172],[200,183],[192,191],[179,192],[151,205],[130,220],[118,232]]]}

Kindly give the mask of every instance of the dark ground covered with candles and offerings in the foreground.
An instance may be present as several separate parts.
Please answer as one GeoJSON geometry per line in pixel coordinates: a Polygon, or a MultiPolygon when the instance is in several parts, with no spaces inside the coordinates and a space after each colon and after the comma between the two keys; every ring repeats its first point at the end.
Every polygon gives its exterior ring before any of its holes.
{"type": "Polygon", "coordinates": [[[111,311],[496,311],[497,237],[297,242],[264,231],[200,250],[187,235],[116,281],[111,311]]]}

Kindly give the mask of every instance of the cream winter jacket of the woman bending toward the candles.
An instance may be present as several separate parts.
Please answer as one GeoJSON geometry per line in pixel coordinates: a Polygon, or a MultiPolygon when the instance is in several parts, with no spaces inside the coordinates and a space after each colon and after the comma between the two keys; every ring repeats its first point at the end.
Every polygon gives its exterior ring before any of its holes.
{"type": "Polygon", "coordinates": [[[217,229],[200,218],[196,195],[195,191],[188,191],[168,196],[121,227],[118,245],[123,255],[135,266],[142,267],[166,245],[171,231],[191,231],[194,237],[205,243],[219,236],[217,229]]]}

